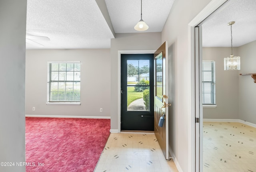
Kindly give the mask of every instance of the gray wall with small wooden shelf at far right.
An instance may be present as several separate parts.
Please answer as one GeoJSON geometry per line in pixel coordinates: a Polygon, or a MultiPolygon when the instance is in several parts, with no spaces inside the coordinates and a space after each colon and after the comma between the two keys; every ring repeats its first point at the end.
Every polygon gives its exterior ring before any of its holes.
{"type": "MultiPolygon", "coordinates": [[[[241,57],[239,73],[256,73],[256,41],[238,48],[241,57]]],[[[239,76],[239,119],[256,124],[256,83],[251,75],[239,76]]]]}

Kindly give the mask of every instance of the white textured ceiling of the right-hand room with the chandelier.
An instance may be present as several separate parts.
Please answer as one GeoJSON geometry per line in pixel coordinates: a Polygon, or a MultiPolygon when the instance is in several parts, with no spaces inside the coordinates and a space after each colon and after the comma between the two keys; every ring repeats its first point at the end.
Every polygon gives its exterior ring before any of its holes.
{"type": "Polygon", "coordinates": [[[242,46],[256,40],[256,0],[229,0],[202,24],[202,45],[204,47],[231,46],[232,25],[233,46],[242,46]]]}

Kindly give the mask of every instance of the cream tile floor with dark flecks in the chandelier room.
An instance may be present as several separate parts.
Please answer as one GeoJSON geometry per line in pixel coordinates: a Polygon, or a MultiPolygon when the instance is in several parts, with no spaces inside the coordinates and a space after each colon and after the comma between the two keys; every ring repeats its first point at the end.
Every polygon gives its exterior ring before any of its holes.
{"type": "Polygon", "coordinates": [[[203,126],[204,172],[256,172],[256,128],[239,122],[203,126]]]}

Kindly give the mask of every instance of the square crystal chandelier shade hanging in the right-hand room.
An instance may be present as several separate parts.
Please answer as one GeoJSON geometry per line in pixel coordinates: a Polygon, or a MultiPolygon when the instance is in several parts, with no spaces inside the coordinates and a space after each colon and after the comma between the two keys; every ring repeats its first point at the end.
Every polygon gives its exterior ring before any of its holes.
{"type": "Polygon", "coordinates": [[[240,57],[230,55],[224,58],[224,70],[240,70],[240,57]]]}

